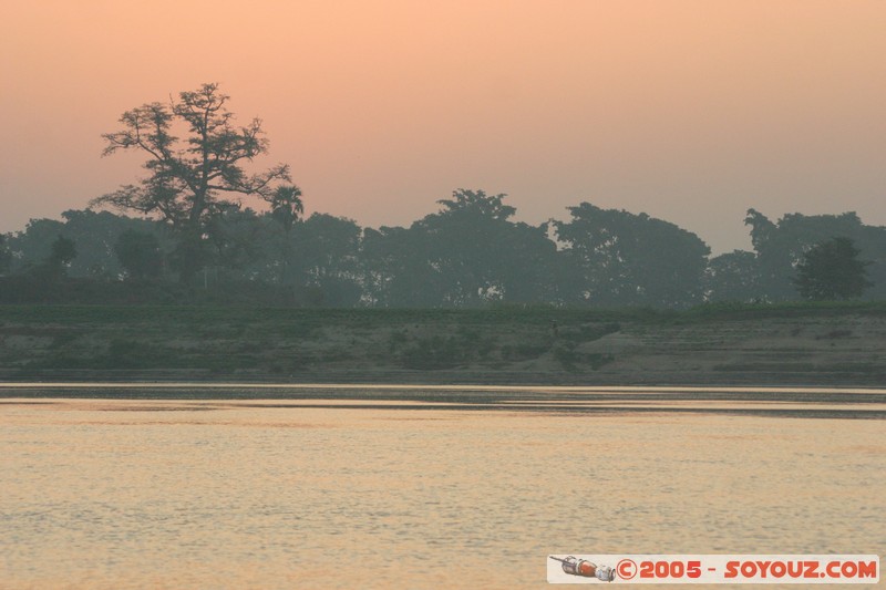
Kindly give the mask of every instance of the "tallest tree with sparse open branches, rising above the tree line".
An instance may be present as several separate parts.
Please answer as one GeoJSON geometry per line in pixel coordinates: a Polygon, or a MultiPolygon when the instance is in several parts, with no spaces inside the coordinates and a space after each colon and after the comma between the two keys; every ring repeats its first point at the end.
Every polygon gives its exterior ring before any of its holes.
{"type": "Polygon", "coordinates": [[[203,84],[179,93],[178,100],[171,99],[168,104],[154,102],[126,111],[120,118],[123,130],[102,135],[106,142],[103,155],[121,149],[141,152],[147,157],[143,167],[148,174],[138,184],[121,186],[91,205],[136,210],[169,224],[179,236],[177,253],[184,281],[190,281],[204,263],[208,221],[239,208],[238,197],[255,195],[277,208],[280,195],[295,199],[300,195],[286,164],[254,174],[244,169],[267,153],[268,139],[258,118],[237,126],[228,100],[218,84],[203,84]]]}

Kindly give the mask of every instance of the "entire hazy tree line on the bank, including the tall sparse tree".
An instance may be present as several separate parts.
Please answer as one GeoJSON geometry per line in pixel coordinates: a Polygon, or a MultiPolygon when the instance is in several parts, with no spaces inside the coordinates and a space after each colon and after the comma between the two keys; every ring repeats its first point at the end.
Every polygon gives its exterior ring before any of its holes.
{"type": "Polygon", "coordinates": [[[750,209],[753,251],[711,257],[696,234],[646,214],[568,207],[515,221],[506,195],[459,189],[409,227],[303,217],[289,167],[217,84],[125,112],[104,155],[140,153],[145,176],[0,239],[0,301],[219,301],[329,307],[495,302],[687,308],[707,301],[886,299],[886,228],[854,213],[750,209]],[[266,204],[244,207],[243,196],[266,204]],[[114,214],[135,213],[138,217],[114,214]]]}

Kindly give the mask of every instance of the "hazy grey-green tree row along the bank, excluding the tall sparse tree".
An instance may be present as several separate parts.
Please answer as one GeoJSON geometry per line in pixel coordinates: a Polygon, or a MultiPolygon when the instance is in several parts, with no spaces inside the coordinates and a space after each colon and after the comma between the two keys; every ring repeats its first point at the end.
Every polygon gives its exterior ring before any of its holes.
{"type": "Polygon", "coordinates": [[[504,199],[460,189],[409,227],[378,229],[326,214],[284,222],[274,211],[228,209],[207,225],[196,269],[163,222],[69,210],[3,236],[0,301],[679,309],[886,299],[886,228],[852,213],[770,221],[752,209],[753,250],[711,257],[697,235],[645,214],[581,203],[566,220],[534,226],[514,221],[504,199]]]}

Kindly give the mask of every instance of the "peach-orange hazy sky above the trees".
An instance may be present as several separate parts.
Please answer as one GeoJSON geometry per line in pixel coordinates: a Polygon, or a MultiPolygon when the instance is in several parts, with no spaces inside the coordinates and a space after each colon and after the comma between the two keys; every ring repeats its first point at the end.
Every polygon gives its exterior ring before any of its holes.
{"type": "MultiPolygon", "coordinates": [[[[133,183],[130,108],[218,82],[308,214],[647,213],[714,253],[748,208],[886,225],[880,0],[6,0],[0,231],[133,183]]],[[[247,203],[250,204],[250,203],[247,203]]],[[[251,205],[251,204],[250,204],[251,205]]]]}

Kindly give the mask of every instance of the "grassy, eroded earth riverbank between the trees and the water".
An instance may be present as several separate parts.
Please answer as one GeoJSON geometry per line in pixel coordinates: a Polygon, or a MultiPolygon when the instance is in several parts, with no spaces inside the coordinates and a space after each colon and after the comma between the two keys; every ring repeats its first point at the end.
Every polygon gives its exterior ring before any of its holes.
{"type": "Polygon", "coordinates": [[[688,311],[0,307],[3,381],[886,383],[886,304],[688,311]]]}

